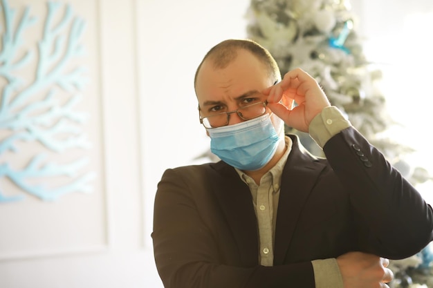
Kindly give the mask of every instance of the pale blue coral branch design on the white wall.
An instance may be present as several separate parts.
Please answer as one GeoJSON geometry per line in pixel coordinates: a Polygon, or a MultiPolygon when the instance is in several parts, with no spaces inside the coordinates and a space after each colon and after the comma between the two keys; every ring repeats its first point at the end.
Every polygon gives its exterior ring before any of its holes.
{"type": "MultiPolygon", "coordinates": [[[[86,23],[74,16],[70,5],[48,2],[41,38],[28,46],[26,33],[38,24],[37,17],[30,15],[29,7],[19,15],[7,0],[0,1],[4,20],[4,28],[0,26],[0,83],[6,83],[0,86],[0,180],[7,179],[24,193],[46,201],[68,193],[90,193],[95,173],[86,172],[88,157],[61,164],[52,160],[58,159],[58,153],[91,148],[83,133],[89,113],[77,110],[87,70],[74,65],[75,59],[85,55],[81,38],[86,23]],[[35,65],[35,77],[26,79],[19,70],[28,70],[30,64],[35,65]],[[12,169],[10,162],[2,159],[4,155],[18,157],[22,144],[37,142],[46,152],[31,156],[27,166],[12,169]],[[54,157],[46,157],[46,153],[54,157]],[[40,184],[59,176],[68,180],[57,187],[40,184]]],[[[0,203],[24,200],[24,195],[6,196],[0,186],[0,203]]]]}

